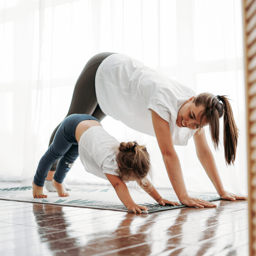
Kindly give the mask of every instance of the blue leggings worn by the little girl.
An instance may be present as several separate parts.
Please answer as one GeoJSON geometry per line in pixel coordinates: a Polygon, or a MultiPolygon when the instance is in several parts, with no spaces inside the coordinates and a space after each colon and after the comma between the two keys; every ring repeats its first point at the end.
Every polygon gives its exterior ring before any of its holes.
{"type": "Polygon", "coordinates": [[[44,186],[45,178],[52,165],[59,159],[54,180],[62,183],[76,158],[78,158],[78,142],[76,141],[76,127],[81,121],[98,119],[86,114],[72,114],[67,116],[59,126],[52,144],[49,146],[46,153],[41,158],[36,175],[34,177],[35,185],[44,186]]]}

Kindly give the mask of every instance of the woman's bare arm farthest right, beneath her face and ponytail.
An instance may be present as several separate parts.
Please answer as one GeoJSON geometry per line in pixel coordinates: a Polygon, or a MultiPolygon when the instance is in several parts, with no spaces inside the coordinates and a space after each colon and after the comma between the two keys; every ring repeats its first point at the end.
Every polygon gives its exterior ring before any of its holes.
{"type": "Polygon", "coordinates": [[[246,200],[247,197],[244,197],[242,195],[234,195],[225,191],[221,182],[221,178],[212,151],[207,143],[204,129],[202,128],[200,133],[198,133],[198,131],[195,132],[193,138],[195,142],[195,148],[197,151],[197,157],[200,163],[203,165],[204,170],[206,171],[208,177],[212,181],[212,184],[215,186],[217,193],[220,195],[220,197],[222,199],[232,201],[235,201],[235,199],[246,200]]]}

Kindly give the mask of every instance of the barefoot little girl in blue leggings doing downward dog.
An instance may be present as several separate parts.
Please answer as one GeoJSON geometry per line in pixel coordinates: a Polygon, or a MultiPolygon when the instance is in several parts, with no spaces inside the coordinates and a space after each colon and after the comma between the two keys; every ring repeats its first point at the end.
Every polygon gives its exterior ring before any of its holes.
{"type": "MultiPolygon", "coordinates": [[[[136,181],[159,204],[179,205],[161,197],[146,178],[150,174],[150,159],[145,146],[134,142],[119,142],[107,133],[93,116],[73,114],[63,120],[54,140],[41,158],[33,181],[33,197],[45,198],[43,185],[52,164],[59,160],[53,177],[53,186],[60,197],[68,197],[62,185],[64,178],[80,156],[85,169],[109,180],[116,194],[129,211],[148,211],[133,202],[125,183],[136,181]],[[117,149],[117,150],[116,150],[117,149]]],[[[209,206],[215,206],[205,201],[209,206]]]]}

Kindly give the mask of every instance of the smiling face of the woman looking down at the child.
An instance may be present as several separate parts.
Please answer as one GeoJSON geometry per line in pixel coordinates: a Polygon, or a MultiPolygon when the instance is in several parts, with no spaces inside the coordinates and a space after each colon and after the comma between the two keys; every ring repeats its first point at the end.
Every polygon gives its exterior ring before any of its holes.
{"type": "MultiPolygon", "coordinates": [[[[176,124],[178,127],[187,127],[189,129],[198,129],[200,126],[200,118],[202,113],[200,111],[205,110],[203,105],[195,106],[195,103],[192,100],[195,97],[191,97],[181,106],[176,124]],[[199,114],[200,113],[200,114],[199,114]]],[[[206,125],[206,124],[204,124],[206,125]]],[[[204,126],[203,125],[203,126],[204,126]]]]}

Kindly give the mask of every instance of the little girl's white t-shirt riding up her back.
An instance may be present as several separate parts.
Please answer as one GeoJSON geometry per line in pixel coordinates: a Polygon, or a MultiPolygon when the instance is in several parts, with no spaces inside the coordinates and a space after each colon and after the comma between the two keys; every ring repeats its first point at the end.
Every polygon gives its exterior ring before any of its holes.
{"type": "Polygon", "coordinates": [[[105,173],[119,176],[116,172],[116,147],[119,144],[102,126],[93,126],[85,131],[78,144],[79,157],[85,170],[105,180],[105,173]]]}

